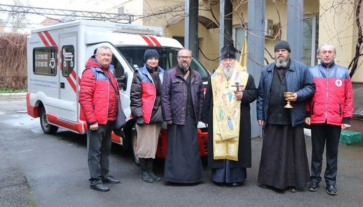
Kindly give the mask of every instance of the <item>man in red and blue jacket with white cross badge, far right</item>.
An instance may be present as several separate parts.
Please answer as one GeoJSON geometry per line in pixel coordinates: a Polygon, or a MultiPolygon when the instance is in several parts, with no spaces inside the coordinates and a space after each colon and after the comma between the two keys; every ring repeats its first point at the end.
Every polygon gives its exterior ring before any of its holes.
{"type": "Polygon", "coordinates": [[[326,142],[326,169],[324,179],[327,192],[336,195],[338,171],[338,145],[341,129],[350,127],[353,114],[353,90],[348,68],[335,64],[336,48],[323,44],[318,49],[321,63],[311,67],[310,73],[316,84],[314,96],[307,104],[305,122],[311,124],[312,163],[311,182],[308,190],[316,191],[322,180],[323,152],[326,142]]]}

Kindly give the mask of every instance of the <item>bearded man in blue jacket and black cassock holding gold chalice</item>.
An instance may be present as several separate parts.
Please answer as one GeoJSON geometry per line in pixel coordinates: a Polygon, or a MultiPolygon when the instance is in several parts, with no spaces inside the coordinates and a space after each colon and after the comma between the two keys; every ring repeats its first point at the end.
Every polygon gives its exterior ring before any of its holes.
{"type": "Polygon", "coordinates": [[[275,62],[261,71],[257,120],[265,126],[257,182],[263,188],[297,192],[310,181],[305,145],[305,101],[314,95],[308,66],[290,58],[290,45],[275,44],[275,62]],[[284,92],[293,92],[285,99],[284,92]],[[286,101],[293,108],[285,108],[286,101]]]}

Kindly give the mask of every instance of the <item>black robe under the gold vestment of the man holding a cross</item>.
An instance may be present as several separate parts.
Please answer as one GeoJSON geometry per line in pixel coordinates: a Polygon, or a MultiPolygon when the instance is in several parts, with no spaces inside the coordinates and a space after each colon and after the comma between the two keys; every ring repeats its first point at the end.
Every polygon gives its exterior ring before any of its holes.
{"type": "Polygon", "coordinates": [[[213,159],[213,91],[209,78],[202,109],[202,121],[208,123],[208,167],[212,168],[212,179],[215,182],[243,182],[251,167],[251,115],[250,103],[258,96],[255,81],[249,75],[247,86],[243,91],[240,105],[238,161],[213,159]]]}

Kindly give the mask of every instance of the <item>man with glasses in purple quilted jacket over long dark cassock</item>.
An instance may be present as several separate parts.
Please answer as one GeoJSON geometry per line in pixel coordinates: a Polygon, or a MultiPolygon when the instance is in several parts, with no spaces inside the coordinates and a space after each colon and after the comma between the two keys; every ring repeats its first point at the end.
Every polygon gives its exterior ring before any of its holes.
{"type": "Polygon", "coordinates": [[[203,80],[190,66],[192,51],[179,50],[177,61],[164,74],[161,89],[162,114],[168,124],[164,180],[199,183],[204,180],[197,133],[204,100],[203,80]]]}

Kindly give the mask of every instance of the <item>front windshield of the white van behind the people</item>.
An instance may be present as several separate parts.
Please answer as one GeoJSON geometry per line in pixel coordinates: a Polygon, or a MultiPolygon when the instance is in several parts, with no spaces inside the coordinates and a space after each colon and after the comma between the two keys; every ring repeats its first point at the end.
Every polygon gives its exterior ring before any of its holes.
{"type": "MultiPolygon", "coordinates": [[[[119,46],[117,49],[125,57],[134,70],[144,66],[144,53],[147,49],[155,49],[159,53],[159,66],[165,71],[169,70],[177,64],[177,52],[181,48],[173,47],[151,47],[151,46],[119,46]]],[[[195,58],[192,58],[191,67],[198,71],[203,81],[208,81],[210,73],[206,68],[195,58]]]]}

